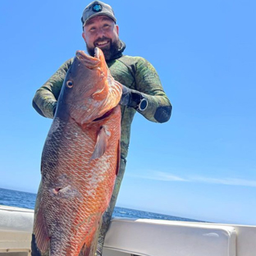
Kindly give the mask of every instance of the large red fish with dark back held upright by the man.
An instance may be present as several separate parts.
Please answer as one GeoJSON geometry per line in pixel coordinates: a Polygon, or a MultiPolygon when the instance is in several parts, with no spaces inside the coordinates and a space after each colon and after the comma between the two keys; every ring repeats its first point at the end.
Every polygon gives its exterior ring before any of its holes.
{"type": "MultiPolygon", "coordinates": [[[[34,240],[51,256],[94,255],[120,160],[121,84],[103,52],[78,51],[43,147],[34,240]]],[[[33,244],[33,243],[32,243],[33,244]]]]}

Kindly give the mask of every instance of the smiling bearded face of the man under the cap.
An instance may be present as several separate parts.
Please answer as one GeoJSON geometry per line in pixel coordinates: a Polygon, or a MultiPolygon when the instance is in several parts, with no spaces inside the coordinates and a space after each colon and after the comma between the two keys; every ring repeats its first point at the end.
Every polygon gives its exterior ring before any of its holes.
{"type": "Polygon", "coordinates": [[[106,60],[111,59],[121,46],[118,31],[118,25],[107,16],[89,19],[82,34],[88,53],[94,56],[94,48],[98,47],[103,50],[106,60]]]}

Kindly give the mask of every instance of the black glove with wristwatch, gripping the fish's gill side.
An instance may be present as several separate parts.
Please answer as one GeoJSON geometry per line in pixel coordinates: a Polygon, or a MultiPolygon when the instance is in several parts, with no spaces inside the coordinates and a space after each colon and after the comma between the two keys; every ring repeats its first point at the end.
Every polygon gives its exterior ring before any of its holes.
{"type": "Polygon", "coordinates": [[[122,85],[122,94],[119,104],[144,111],[148,107],[148,99],[145,98],[143,94],[139,93],[139,91],[129,89],[125,85],[122,85]]]}

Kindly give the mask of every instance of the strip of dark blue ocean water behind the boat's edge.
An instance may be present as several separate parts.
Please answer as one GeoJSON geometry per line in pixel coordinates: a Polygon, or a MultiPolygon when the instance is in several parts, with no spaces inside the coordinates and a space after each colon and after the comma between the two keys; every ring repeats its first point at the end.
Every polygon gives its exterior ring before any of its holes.
{"type": "MultiPolygon", "coordinates": [[[[7,190],[0,188],[0,205],[14,206],[20,208],[34,209],[36,194],[27,193],[16,190],[7,190]]],[[[157,220],[170,220],[181,222],[202,222],[185,217],[176,217],[160,213],[150,213],[139,211],[130,208],[116,207],[114,209],[113,217],[126,217],[126,218],[147,218],[157,220]]]]}

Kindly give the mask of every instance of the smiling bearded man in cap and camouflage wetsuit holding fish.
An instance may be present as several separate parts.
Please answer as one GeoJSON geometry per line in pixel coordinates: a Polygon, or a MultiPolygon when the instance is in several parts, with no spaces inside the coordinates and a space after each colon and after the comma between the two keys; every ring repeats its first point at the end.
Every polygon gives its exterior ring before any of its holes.
{"type": "MultiPolygon", "coordinates": [[[[103,225],[100,230],[97,249],[97,255],[101,255],[104,237],[126,168],[130,125],[135,112],[139,112],[149,121],[162,123],[171,117],[171,103],[162,89],[158,74],[153,66],[142,57],[123,55],[126,45],[119,39],[119,27],[116,24],[117,20],[112,7],[100,1],[91,2],[85,8],[81,21],[83,25],[82,37],[85,40],[88,53],[94,56],[94,48],[101,48],[113,78],[123,85],[120,102],[122,114],[121,166],[109,208],[103,215],[103,225]]],[[[65,62],[34,95],[33,107],[43,117],[54,117],[57,98],[66,71],[71,66],[72,61],[73,59],[70,59],[65,62]]]]}

